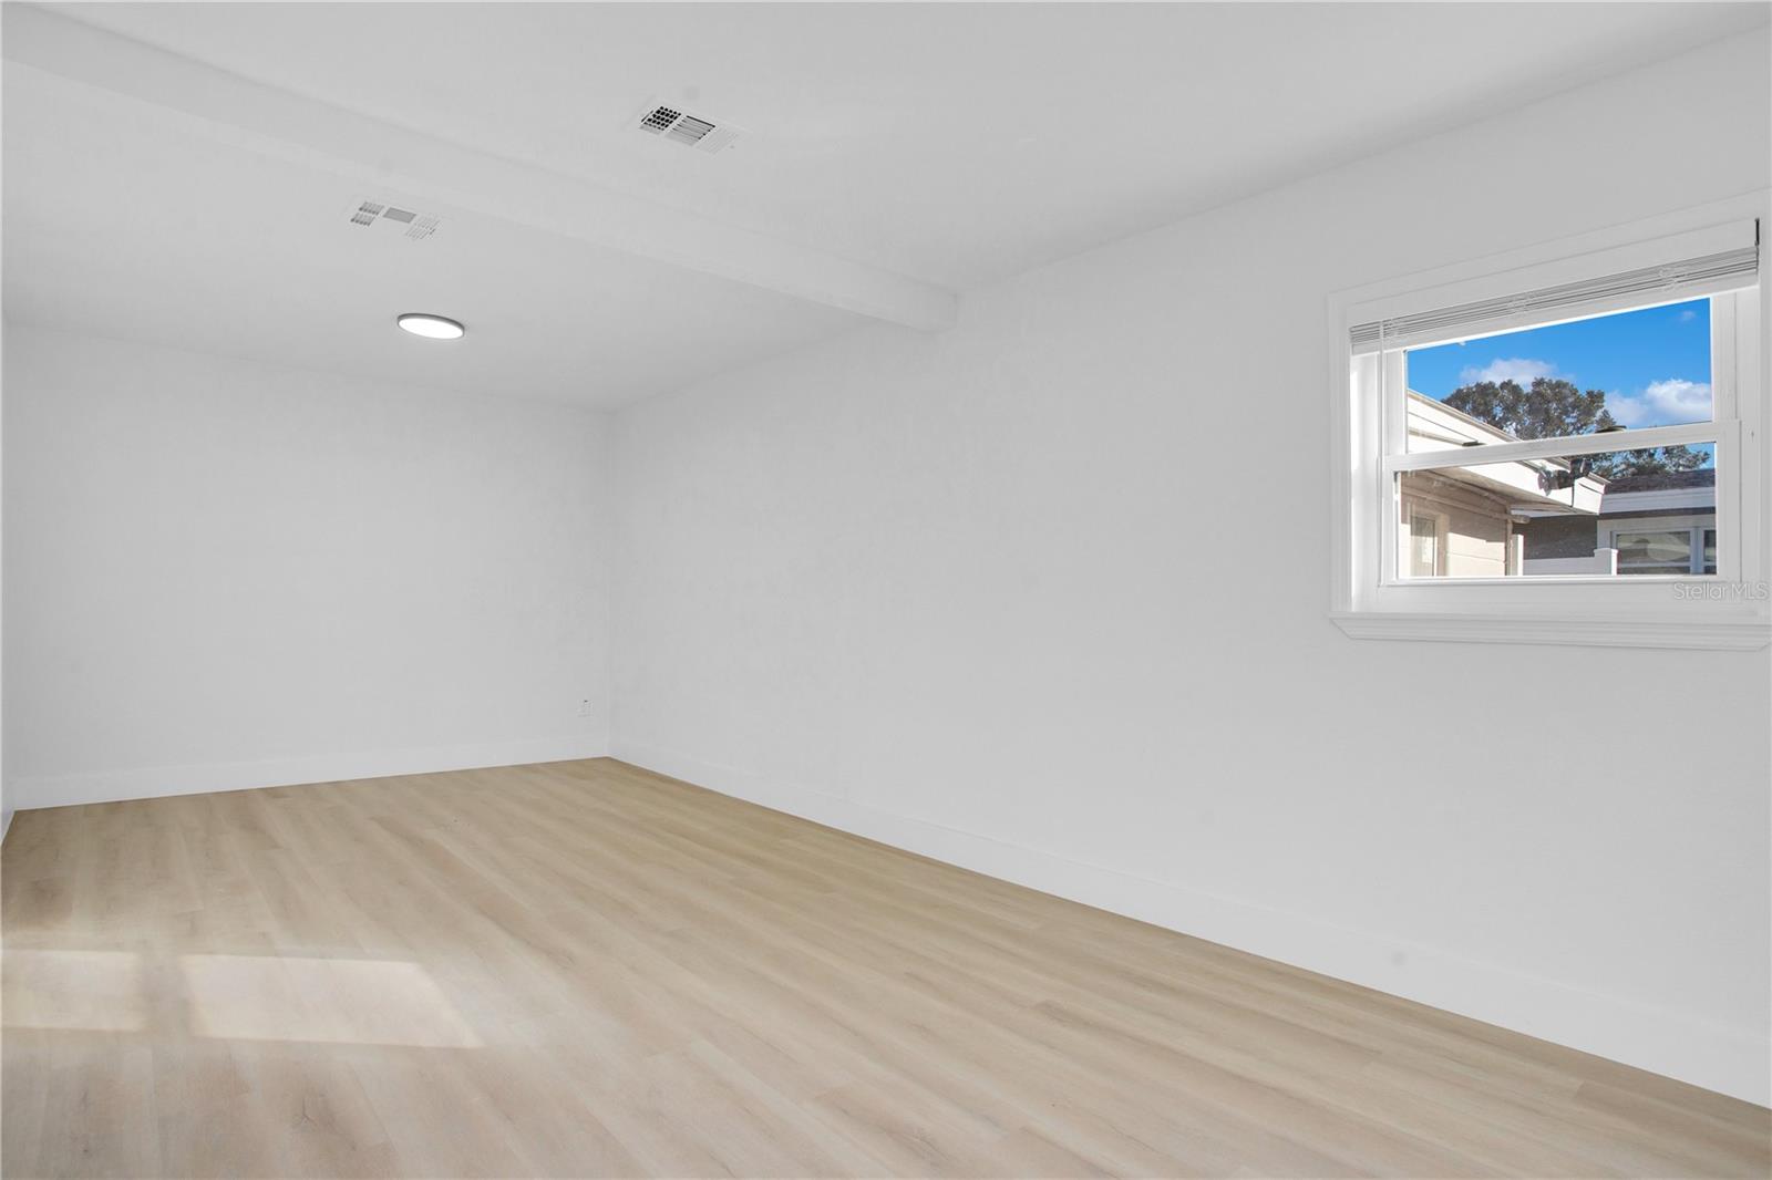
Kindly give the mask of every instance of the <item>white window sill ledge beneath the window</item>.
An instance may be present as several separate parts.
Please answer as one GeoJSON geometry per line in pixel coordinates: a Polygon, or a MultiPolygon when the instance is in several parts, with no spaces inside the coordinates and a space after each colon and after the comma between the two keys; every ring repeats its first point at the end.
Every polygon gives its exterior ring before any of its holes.
{"type": "Polygon", "coordinates": [[[1758,652],[1772,641],[1765,618],[1570,618],[1554,615],[1441,615],[1329,611],[1356,640],[1421,643],[1558,643],[1574,647],[1669,647],[1758,652]]]}

